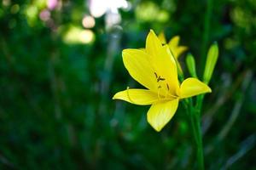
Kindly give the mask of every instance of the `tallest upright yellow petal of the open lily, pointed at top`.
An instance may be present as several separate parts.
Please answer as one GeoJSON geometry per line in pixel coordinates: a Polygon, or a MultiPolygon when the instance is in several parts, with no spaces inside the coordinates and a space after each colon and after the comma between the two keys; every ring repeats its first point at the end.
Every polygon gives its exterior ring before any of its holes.
{"type": "Polygon", "coordinates": [[[177,65],[168,45],[161,45],[159,38],[150,30],[146,40],[146,51],[149,54],[149,61],[154,67],[154,71],[158,76],[166,79],[170,88],[166,88],[166,83],[163,88],[166,91],[171,90],[171,94],[176,95],[178,88],[177,81],[177,65]]]}

